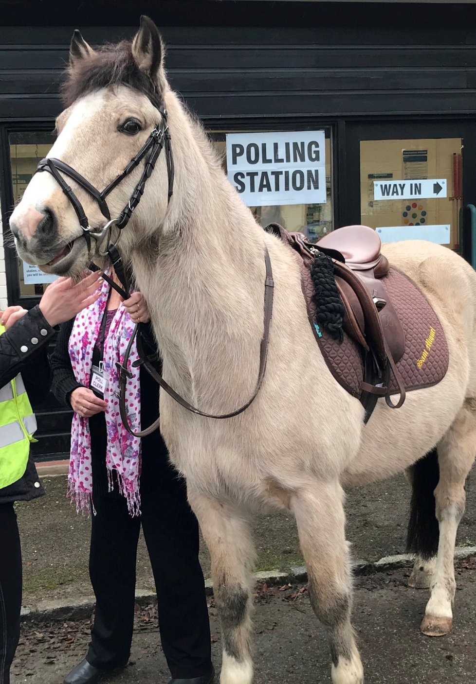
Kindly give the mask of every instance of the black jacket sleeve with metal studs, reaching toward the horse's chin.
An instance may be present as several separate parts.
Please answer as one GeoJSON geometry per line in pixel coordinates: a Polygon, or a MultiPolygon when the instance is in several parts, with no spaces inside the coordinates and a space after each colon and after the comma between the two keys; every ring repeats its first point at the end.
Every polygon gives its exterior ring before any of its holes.
{"type": "MultiPolygon", "coordinates": [[[[0,335],[0,387],[13,380],[18,373],[26,371],[27,367],[36,369],[38,364],[42,371],[46,371],[46,350],[54,334],[55,329],[51,328],[38,306],[34,306],[9,330],[5,330],[0,335]]],[[[43,382],[47,382],[49,388],[49,381],[45,377],[43,382]]]]}

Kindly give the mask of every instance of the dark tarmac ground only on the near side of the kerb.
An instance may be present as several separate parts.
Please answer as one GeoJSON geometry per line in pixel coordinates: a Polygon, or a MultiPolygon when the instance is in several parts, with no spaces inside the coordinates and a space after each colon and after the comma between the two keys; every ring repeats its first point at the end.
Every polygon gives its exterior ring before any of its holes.
{"type": "MultiPolygon", "coordinates": [[[[407,586],[409,570],[355,579],[353,623],[366,684],[460,684],[475,681],[476,558],[458,564],[453,632],[431,639],[418,631],[427,591],[407,586]]],[[[121,684],[166,684],[168,670],[151,605],[136,612],[129,666],[121,684]]],[[[210,599],[212,654],[221,661],[221,634],[210,599]]],[[[90,620],[31,622],[23,627],[12,684],[61,684],[86,653],[90,620]]],[[[254,684],[327,684],[330,657],[305,586],[262,586],[255,594],[254,684]]]]}

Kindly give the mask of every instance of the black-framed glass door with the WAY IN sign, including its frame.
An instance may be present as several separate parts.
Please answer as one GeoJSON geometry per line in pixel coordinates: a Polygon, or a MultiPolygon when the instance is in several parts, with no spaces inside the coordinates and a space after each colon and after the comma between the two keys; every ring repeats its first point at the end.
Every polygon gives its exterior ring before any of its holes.
{"type": "Polygon", "coordinates": [[[348,140],[351,222],[382,242],[424,239],[471,259],[472,122],[355,124],[348,140]]]}

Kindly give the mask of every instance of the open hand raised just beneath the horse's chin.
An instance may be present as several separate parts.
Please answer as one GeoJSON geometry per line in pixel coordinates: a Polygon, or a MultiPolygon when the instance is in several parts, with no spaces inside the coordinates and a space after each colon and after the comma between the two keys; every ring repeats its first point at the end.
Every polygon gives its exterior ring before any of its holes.
{"type": "Polygon", "coordinates": [[[101,275],[100,271],[86,272],[79,282],[74,282],[71,278],[58,278],[48,285],[39,306],[52,328],[75,317],[79,311],[99,299],[101,275]]]}

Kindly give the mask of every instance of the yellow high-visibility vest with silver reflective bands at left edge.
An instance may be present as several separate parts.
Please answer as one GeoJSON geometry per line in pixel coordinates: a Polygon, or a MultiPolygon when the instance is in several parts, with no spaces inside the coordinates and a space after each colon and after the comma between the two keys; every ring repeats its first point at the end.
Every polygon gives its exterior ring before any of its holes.
{"type": "MultiPolygon", "coordinates": [[[[0,325],[0,335],[5,328],[0,325]]],[[[36,418],[18,373],[0,389],[0,489],[25,474],[36,418]]]]}

